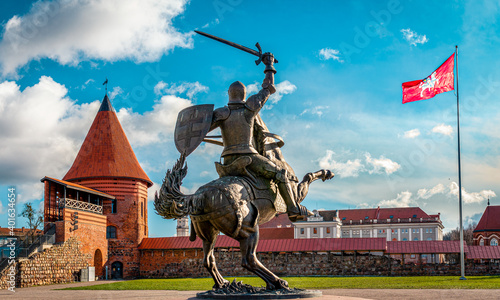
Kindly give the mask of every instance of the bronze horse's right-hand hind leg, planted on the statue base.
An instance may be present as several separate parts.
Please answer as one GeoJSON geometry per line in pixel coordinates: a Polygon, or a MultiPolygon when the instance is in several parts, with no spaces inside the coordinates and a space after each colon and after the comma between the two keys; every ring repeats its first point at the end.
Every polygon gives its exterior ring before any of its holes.
{"type": "Polygon", "coordinates": [[[259,241],[259,232],[251,233],[247,238],[240,240],[241,265],[248,271],[255,273],[266,282],[268,290],[288,288],[288,282],[280,279],[269,271],[257,259],[255,250],[259,241]]]}

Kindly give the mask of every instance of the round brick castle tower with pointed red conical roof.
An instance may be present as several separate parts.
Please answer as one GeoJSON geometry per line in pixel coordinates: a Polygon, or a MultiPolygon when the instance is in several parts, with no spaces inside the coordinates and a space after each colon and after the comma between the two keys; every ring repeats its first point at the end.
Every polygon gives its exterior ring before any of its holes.
{"type": "Polygon", "coordinates": [[[115,197],[102,204],[108,272],[112,278],[138,276],[137,247],[148,236],[147,189],[153,183],[139,165],[107,95],[63,180],[115,197]]]}

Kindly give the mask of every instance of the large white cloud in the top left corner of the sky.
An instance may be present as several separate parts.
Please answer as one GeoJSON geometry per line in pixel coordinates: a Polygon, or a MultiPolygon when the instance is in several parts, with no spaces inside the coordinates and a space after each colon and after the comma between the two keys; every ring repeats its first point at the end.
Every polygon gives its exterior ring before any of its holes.
{"type": "Polygon", "coordinates": [[[81,61],[158,60],[175,47],[191,48],[193,33],[181,33],[172,20],[186,0],[56,0],[35,2],[12,17],[0,41],[4,75],[15,75],[32,60],[49,58],[62,65],[81,61]]]}

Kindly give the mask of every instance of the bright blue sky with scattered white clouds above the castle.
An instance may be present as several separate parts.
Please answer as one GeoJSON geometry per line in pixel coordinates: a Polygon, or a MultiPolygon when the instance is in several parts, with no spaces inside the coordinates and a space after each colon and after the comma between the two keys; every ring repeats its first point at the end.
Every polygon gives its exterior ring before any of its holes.
{"type": "MultiPolygon", "coordinates": [[[[18,209],[41,205],[44,176],[71,166],[109,95],[155,183],[178,158],[179,110],[227,103],[235,80],[256,92],[255,57],[201,30],[273,52],[278,92],[261,112],[284,137],[296,174],[332,169],[309,209],[420,206],[458,226],[456,97],[401,104],[401,83],[423,79],[459,46],[464,220],[500,193],[500,5],[495,1],[2,1],[0,226],[7,187],[18,209]],[[137,2],[138,3],[138,2],[137,2]]],[[[186,192],[216,178],[221,148],[188,158],[186,192]]],[[[172,236],[149,202],[150,236],[172,236]]],[[[18,218],[19,226],[24,220],[18,218]]]]}

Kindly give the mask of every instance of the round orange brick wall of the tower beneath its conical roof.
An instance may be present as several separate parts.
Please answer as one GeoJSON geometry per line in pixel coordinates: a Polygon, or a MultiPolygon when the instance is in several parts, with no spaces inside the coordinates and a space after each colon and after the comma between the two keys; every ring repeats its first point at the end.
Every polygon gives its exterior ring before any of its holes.
{"type": "Polygon", "coordinates": [[[73,181],[116,197],[117,211],[112,213],[111,200],[104,202],[107,226],[116,227],[116,239],[108,239],[108,268],[119,261],[123,277],[139,276],[139,250],[148,236],[147,183],[127,178],[93,178],[73,181]]]}

